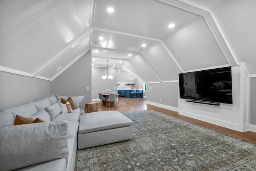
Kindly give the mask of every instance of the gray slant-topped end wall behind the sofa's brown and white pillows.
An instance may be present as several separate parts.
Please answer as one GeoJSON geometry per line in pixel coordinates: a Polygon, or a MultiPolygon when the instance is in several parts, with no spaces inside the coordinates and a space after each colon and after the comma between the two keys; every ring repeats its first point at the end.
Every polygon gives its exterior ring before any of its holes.
{"type": "Polygon", "coordinates": [[[68,69],[52,81],[52,94],[65,96],[84,95],[82,109],[92,101],[92,52],[89,50],[68,69]],[[89,89],[86,89],[89,87],[89,89]]]}

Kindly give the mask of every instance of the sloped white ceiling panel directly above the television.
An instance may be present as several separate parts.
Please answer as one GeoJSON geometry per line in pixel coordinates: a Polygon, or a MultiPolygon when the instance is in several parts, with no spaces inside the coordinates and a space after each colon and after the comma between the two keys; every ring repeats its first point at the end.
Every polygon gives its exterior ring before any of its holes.
{"type": "Polygon", "coordinates": [[[163,42],[175,56],[183,71],[228,64],[202,18],[163,42]]]}

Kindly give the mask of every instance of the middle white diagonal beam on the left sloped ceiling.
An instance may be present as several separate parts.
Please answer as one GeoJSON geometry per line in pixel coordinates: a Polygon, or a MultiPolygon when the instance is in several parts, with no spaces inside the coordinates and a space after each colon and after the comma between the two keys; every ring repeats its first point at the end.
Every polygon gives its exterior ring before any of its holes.
{"type": "Polygon", "coordinates": [[[84,38],[86,38],[86,36],[89,36],[90,34],[92,34],[92,30],[87,30],[84,34],[82,34],[80,37],[76,38],[75,40],[73,40],[72,42],[70,42],[70,44],[68,44],[68,46],[66,46],[66,48],[64,48],[62,51],[60,51],[56,56],[52,57],[50,60],[48,60],[43,66],[41,66],[40,68],[38,68],[34,73],[33,76],[36,77],[39,74],[41,74],[42,72],[44,72],[44,70],[46,70],[49,66],[51,66],[52,64],[54,64],[54,62],[56,62],[57,60],[59,60],[62,56],[64,56],[64,54],[68,53],[72,48],[74,48],[81,40],[83,40],[84,38]]]}

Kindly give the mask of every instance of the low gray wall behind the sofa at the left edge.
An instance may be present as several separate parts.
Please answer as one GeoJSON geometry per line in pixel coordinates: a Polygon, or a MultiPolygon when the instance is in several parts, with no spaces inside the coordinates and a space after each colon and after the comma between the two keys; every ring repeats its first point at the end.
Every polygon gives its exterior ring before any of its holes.
{"type": "Polygon", "coordinates": [[[51,82],[0,72],[0,110],[51,95],[51,82]]]}

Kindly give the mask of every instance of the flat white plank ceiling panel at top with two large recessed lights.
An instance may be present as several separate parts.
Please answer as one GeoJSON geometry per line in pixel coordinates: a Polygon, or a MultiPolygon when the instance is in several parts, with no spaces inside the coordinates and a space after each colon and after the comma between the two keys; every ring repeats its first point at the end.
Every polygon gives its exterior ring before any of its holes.
{"type": "Polygon", "coordinates": [[[94,27],[161,39],[198,15],[155,0],[98,0],[94,27]],[[106,9],[112,6],[113,13],[106,9]],[[174,23],[170,29],[168,25],[174,23]]]}

